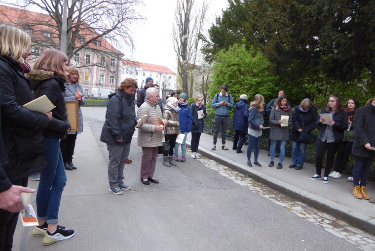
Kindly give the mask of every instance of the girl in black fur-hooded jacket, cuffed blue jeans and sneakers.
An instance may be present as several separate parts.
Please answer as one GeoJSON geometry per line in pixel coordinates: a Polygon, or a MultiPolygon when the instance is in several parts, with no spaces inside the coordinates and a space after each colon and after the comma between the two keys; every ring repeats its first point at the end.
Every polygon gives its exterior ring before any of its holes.
{"type": "Polygon", "coordinates": [[[40,172],[37,193],[39,226],[33,230],[34,236],[44,236],[43,245],[51,245],[75,235],[74,230],[67,230],[57,225],[61,195],[67,182],[60,139],[65,138],[71,128],[64,96],[68,66],[68,58],[64,53],[49,49],[38,58],[34,70],[28,74],[34,96],[37,98],[46,95],[55,105],[52,110],[53,118],[43,129],[47,167],[40,172]]]}

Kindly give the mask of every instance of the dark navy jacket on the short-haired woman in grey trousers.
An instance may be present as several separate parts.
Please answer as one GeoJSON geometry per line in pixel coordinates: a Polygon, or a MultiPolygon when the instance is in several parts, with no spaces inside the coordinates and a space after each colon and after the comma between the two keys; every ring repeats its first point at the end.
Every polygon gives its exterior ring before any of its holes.
{"type": "Polygon", "coordinates": [[[134,95],[118,91],[109,96],[106,121],[104,122],[100,141],[111,145],[130,143],[135,131],[137,117],[134,109],[134,95]],[[122,139],[117,142],[116,139],[122,139]]]}

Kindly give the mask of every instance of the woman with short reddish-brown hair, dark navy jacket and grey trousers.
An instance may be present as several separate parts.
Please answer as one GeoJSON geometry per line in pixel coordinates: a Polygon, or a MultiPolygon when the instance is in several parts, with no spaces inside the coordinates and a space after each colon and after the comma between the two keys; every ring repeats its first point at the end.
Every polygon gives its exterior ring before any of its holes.
{"type": "Polygon", "coordinates": [[[109,95],[106,121],[100,135],[100,141],[107,144],[109,152],[108,179],[109,190],[114,194],[123,194],[130,190],[124,184],[124,166],[129,156],[130,143],[136,126],[134,98],[138,84],[127,78],[118,87],[118,91],[109,95]]]}

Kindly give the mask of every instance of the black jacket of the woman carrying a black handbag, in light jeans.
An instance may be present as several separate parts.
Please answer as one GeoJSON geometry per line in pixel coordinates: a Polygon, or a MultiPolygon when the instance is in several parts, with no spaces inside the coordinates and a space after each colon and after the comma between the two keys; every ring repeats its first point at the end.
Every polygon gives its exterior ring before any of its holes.
{"type": "Polygon", "coordinates": [[[302,112],[300,106],[296,106],[292,115],[292,130],[290,132],[290,140],[300,142],[299,129],[307,129],[308,133],[316,128],[316,122],[318,121],[318,113],[314,106],[311,106],[307,112],[302,112]],[[304,128],[302,128],[302,119],[304,128]]]}

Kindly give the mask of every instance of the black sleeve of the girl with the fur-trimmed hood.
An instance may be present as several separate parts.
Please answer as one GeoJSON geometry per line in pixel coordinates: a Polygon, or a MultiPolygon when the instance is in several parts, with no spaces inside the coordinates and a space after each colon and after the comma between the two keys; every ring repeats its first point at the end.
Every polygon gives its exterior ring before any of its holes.
{"type": "MultiPolygon", "coordinates": [[[[61,91],[60,86],[57,83],[47,83],[43,84],[40,88],[39,96],[46,95],[47,98],[56,105],[57,103],[57,95],[61,91]]],[[[53,115],[53,112],[52,112],[53,115]]],[[[47,128],[55,130],[55,131],[68,131],[71,126],[68,121],[58,120],[56,118],[52,118],[52,120],[48,123],[47,128]]]]}

